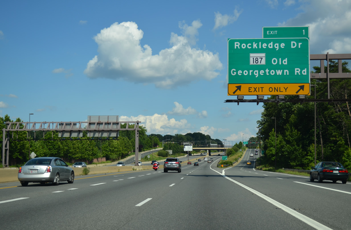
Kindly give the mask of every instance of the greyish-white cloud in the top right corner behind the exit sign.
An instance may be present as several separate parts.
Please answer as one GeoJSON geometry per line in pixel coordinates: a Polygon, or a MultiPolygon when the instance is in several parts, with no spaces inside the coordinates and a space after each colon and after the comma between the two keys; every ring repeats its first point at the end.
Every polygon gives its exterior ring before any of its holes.
{"type": "Polygon", "coordinates": [[[303,12],[279,26],[309,26],[311,54],[350,53],[351,2],[300,1],[303,12]]]}

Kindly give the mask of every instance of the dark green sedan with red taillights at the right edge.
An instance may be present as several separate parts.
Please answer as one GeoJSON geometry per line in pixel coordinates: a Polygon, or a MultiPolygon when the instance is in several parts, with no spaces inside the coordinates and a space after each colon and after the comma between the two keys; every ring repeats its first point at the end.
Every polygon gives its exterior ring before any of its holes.
{"type": "Polygon", "coordinates": [[[349,172],[339,162],[319,162],[316,166],[311,167],[310,181],[318,180],[322,183],[323,180],[331,180],[333,183],[341,181],[346,184],[349,172]]]}

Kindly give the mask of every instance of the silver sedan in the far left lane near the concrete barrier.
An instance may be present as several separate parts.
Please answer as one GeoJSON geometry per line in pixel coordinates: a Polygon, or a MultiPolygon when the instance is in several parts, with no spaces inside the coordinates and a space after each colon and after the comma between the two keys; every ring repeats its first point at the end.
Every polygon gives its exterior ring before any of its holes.
{"type": "Polygon", "coordinates": [[[60,181],[73,183],[74,171],[58,157],[38,157],[29,160],[18,170],[18,180],[22,186],[29,182],[59,185],[60,181]]]}

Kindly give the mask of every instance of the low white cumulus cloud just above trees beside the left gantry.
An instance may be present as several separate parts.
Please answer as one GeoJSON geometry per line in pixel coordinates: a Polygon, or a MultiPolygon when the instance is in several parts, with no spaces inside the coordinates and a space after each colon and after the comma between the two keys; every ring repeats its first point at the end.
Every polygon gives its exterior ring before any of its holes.
{"type": "Polygon", "coordinates": [[[168,119],[166,114],[154,114],[152,116],[120,116],[120,121],[140,121],[139,125],[143,125],[147,129],[147,133],[158,133],[158,134],[175,134],[175,133],[187,133],[184,130],[190,128],[187,120],[181,119],[176,121],[176,119],[168,119]]]}

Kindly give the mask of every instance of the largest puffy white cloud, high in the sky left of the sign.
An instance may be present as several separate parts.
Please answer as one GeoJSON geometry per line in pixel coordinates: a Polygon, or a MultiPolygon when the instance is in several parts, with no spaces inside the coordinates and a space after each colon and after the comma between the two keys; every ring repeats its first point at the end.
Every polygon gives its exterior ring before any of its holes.
{"type": "Polygon", "coordinates": [[[199,21],[192,26],[181,23],[185,36],[171,33],[171,48],[153,55],[150,46],[141,47],[144,32],[137,23],[115,22],[94,36],[99,55],[88,62],[84,73],[90,78],[124,79],[159,88],[214,79],[223,68],[218,53],[192,48],[189,43],[200,26],[199,21]]]}

